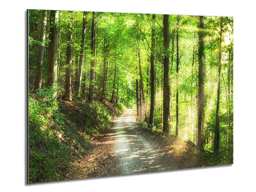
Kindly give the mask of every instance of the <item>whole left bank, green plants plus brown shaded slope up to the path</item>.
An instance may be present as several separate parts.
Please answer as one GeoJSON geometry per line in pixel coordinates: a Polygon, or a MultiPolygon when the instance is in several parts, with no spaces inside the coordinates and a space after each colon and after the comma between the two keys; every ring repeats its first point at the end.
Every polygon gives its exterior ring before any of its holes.
{"type": "Polygon", "coordinates": [[[54,92],[29,92],[29,183],[60,180],[73,157],[84,155],[92,145],[90,136],[108,128],[110,119],[122,111],[111,111],[109,103],[100,102],[73,102],[73,108],[65,110],[54,92]]]}

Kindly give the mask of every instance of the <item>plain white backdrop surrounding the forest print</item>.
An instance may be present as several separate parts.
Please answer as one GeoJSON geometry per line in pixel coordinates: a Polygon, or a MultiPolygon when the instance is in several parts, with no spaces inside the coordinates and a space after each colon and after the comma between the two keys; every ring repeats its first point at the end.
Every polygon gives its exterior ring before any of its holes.
{"type": "Polygon", "coordinates": [[[254,191],[256,30],[253,0],[23,0],[0,12],[2,191],[254,191]],[[26,185],[26,9],[234,17],[234,164],[26,185]]]}

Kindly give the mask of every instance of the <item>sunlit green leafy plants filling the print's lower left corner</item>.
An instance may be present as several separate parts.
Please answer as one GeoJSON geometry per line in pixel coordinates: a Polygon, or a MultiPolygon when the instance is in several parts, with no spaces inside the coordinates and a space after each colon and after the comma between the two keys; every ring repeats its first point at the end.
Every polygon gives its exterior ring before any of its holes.
{"type": "Polygon", "coordinates": [[[29,93],[29,183],[59,180],[70,166],[70,154],[83,154],[90,146],[60,113],[54,92],[29,93]]]}

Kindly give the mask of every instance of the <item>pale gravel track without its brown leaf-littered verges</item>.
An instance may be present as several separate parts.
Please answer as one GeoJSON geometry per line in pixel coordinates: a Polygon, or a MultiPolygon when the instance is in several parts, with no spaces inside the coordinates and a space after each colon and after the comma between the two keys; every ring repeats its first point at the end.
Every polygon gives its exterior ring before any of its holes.
{"type": "Polygon", "coordinates": [[[115,119],[112,138],[118,163],[114,175],[178,169],[170,148],[162,148],[151,134],[136,124],[128,109],[115,119]]]}

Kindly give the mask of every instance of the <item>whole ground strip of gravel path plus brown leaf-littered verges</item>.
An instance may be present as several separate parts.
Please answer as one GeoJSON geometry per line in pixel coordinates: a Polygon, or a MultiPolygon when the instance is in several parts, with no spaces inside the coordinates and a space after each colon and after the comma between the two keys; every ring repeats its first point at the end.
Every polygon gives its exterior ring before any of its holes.
{"type": "Polygon", "coordinates": [[[131,109],[112,119],[111,125],[93,138],[87,154],[77,157],[61,180],[200,166],[197,154],[191,152],[194,145],[137,125],[131,109]]]}

